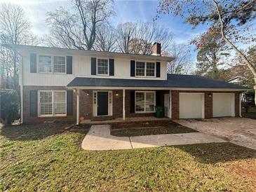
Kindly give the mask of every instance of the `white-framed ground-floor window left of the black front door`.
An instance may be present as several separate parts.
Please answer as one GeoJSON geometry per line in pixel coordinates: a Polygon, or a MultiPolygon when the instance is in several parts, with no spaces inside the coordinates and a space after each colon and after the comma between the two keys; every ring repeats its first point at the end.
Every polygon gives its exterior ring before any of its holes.
{"type": "Polygon", "coordinates": [[[66,91],[40,90],[39,115],[58,116],[67,114],[66,91]]]}

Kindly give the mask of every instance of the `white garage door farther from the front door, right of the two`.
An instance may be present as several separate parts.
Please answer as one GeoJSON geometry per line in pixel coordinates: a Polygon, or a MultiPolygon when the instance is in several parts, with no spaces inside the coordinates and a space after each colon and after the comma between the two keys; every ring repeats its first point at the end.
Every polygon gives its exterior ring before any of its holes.
{"type": "Polygon", "coordinates": [[[234,93],[213,93],[213,117],[234,116],[234,93]]]}

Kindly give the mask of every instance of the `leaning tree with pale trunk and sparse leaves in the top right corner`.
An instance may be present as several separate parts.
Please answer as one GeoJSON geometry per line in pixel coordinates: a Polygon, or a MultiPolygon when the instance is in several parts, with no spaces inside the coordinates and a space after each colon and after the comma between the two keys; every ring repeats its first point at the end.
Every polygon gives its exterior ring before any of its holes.
{"type": "MultiPolygon", "coordinates": [[[[256,84],[256,67],[248,57],[239,49],[239,44],[248,45],[256,41],[252,32],[256,18],[256,0],[172,0],[159,2],[159,14],[172,13],[185,18],[194,27],[208,24],[210,28],[218,29],[222,39],[241,57],[252,72],[256,84]]],[[[254,86],[256,93],[256,85],[254,86]]],[[[256,94],[255,94],[256,105],[256,94]]]]}

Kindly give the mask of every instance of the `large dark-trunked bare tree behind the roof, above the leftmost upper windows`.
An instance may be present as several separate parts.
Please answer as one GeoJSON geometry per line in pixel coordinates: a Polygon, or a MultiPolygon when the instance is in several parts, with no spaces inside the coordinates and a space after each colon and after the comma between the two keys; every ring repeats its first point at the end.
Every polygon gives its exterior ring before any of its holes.
{"type": "Polygon", "coordinates": [[[97,30],[114,14],[112,0],[73,0],[73,3],[74,14],[62,7],[47,13],[50,45],[91,50],[97,30]]]}

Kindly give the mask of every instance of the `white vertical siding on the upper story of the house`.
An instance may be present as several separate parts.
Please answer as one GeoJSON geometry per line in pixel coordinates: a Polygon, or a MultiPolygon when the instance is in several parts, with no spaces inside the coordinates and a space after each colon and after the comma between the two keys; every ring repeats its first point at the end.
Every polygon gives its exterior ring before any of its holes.
{"type": "MultiPolygon", "coordinates": [[[[36,53],[36,52],[35,52],[36,53]]],[[[63,53],[46,53],[40,52],[37,55],[63,55],[63,53]]],[[[90,75],[90,56],[86,55],[72,55],[72,72],[73,74],[40,74],[30,73],[30,53],[23,53],[23,66],[24,66],[24,85],[49,85],[49,86],[66,86],[75,77],[96,77],[96,78],[130,78],[130,79],[154,79],[154,80],[166,80],[166,62],[161,62],[161,77],[160,78],[149,78],[149,77],[131,77],[130,76],[130,60],[126,58],[114,57],[114,76],[91,76],[90,75]]],[[[95,57],[95,56],[93,56],[95,57]]],[[[109,59],[107,57],[107,59],[109,59]]],[[[143,60],[142,60],[143,61],[143,60]]],[[[147,60],[149,61],[149,60],[147,60]]],[[[37,60],[38,62],[38,60],[37,60]]],[[[156,62],[155,60],[153,62],[156,62]]]]}

